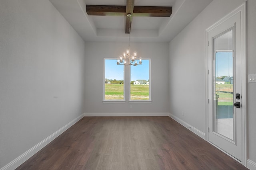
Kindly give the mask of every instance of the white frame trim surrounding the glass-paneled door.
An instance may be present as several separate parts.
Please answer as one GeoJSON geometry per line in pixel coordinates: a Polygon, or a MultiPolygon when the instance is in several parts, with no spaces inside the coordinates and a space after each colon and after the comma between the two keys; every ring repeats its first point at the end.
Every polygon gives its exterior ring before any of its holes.
{"type": "MultiPolygon", "coordinates": [[[[224,18],[220,19],[219,21],[217,21],[216,23],[214,23],[212,26],[210,26],[209,28],[207,28],[205,30],[205,37],[206,37],[206,135],[205,135],[205,140],[209,142],[209,135],[208,135],[208,127],[209,127],[209,117],[208,117],[208,109],[209,109],[209,94],[208,94],[208,75],[210,72],[210,68],[209,68],[209,61],[208,61],[208,32],[212,29],[214,29],[215,27],[217,27],[218,25],[220,25],[221,23],[225,22],[226,20],[228,20],[230,17],[236,15],[240,13],[241,16],[241,95],[242,95],[242,101],[241,101],[241,106],[242,106],[242,164],[244,166],[247,166],[247,125],[246,125],[246,2],[244,2],[243,4],[241,4],[238,8],[236,8],[235,10],[233,10],[232,12],[230,12],[228,15],[224,16],[224,18]]],[[[212,144],[212,143],[211,143],[212,144]]],[[[212,144],[214,145],[214,144],[212,144]]],[[[217,147],[216,145],[214,145],[215,147],[217,147]]],[[[217,147],[218,149],[220,149],[219,147],[217,147]]],[[[222,150],[222,149],[220,149],[222,150]]],[[[223,152],[225,152],[224,150],[222,150],[223,152]]],[[[228,154],[227,152],[225,152],[226,154],[228,154]]],[[[234,158],[232,155],[228,154],[229,156],[231,156],[232,158],[234,158]]],[[[236,158],[234,158],[235,160],[237,160],[236,158]]]]}

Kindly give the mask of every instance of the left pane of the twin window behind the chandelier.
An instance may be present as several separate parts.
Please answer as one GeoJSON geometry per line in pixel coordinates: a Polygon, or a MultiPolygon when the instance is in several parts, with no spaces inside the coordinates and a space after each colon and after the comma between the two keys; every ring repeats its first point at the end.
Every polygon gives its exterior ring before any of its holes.
{"type": "Polygon", "coordinates": [[[105,59],[104,100],[124,100],[124,66],[116,59],[105,59]]]}

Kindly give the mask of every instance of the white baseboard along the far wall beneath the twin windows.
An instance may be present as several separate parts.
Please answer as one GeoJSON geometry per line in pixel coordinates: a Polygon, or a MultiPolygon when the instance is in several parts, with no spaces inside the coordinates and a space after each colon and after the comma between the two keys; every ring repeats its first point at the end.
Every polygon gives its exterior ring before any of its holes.
{"type": "Polygon", "coordinates": [[[84,113],[84,116],[169,116],[169,113],[84,113]]]}

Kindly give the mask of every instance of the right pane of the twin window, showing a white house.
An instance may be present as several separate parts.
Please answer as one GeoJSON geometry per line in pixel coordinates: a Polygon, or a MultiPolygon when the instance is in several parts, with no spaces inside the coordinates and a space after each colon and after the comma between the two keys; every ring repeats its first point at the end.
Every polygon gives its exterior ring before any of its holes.
{"type": "Polygon", "coordinates": [[[130,100],[150,100],[149,66],[149,60],[142,60],[142,65],[131,66],[130,100]]]}

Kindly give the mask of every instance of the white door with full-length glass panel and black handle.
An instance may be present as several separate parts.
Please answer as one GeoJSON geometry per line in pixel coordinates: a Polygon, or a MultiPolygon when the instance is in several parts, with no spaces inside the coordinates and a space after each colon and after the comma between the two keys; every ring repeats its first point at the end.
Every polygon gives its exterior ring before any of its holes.
{"type": "Polygon", "coordinates": [[[208,35],[208,141],[242,161],[244,87],[241,12],[208,35]]]}

